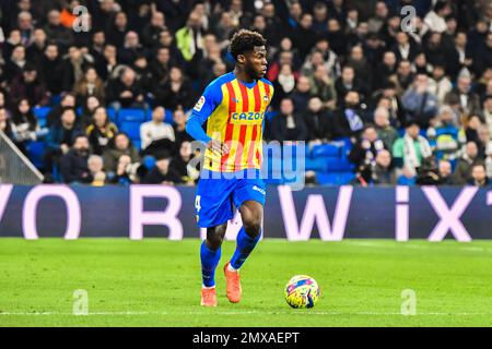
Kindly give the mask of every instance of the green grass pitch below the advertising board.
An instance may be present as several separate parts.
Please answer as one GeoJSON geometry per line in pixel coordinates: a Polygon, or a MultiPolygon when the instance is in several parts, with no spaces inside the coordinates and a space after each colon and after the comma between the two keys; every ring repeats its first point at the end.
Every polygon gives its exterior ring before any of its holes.
{"type": "Polygon", "coordinates": [[[198,240],[0,239],[0,326],[490,326],[492,242],[260,241],[242,270],[243,301],[199,305],[198,240]],[[321,298],[289,308],[290,277],[307,274],[321,298]],[[87,291],[87,315],[73,292],[87,291]],[[402,315],[402,291],[417,314],[402,315]]]}

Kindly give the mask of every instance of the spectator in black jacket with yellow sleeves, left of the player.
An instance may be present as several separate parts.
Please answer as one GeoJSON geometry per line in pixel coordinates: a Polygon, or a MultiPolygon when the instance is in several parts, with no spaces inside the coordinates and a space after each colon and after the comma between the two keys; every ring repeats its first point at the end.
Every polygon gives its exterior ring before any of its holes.
{"type": "Polygon", "coordinates": [[[92,123],[85,131],[89,143],[91,144],[94,154],[103,155],[109,142],[115,137],[115,134],[118,133],[118,128],[110,122],[106,108],[104,107],[97,107],[94,110],[92,120],[92,123]]]}

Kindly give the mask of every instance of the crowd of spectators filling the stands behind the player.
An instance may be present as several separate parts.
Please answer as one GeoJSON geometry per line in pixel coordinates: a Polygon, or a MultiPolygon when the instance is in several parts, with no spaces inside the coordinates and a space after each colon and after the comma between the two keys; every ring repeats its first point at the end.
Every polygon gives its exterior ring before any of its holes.
{"type": "Polygon", "coordinates": [[[241,27],[268,40],[267,140],[313,151],[341,142],[347,182],[360,185],[492,179],[490,1],[0,4],[0,130],[30,157],[43,144],[48,182],[194,184],[186,120],[233,68],[226,48],[241,27]],[[411,22],[400,15],[408,4],[411,22]],[[80,5],[89,12],[77,16],[80,5]]]}

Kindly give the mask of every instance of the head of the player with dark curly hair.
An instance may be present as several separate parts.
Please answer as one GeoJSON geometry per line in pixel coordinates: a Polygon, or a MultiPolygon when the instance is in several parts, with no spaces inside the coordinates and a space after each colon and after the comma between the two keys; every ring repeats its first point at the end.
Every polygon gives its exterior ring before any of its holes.
{"type": "Polygon", "coordinates": [[[261,79],[267,72],[266,40],[261,34],[241,29],[231,39],[230,52],[236,64],[253,79],[261,79]]]}

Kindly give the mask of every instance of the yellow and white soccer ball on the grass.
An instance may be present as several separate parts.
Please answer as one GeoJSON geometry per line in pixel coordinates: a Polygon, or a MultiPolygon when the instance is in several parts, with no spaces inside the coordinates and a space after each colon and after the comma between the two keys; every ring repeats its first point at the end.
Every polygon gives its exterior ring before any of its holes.
{"type": "Polygon", "coordinates": [[[285,286],[285,301],[292,308],[313,308],[319,296],[318,282],[307,275],[296,275],[285,286]]]}

